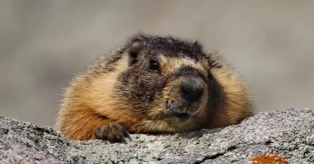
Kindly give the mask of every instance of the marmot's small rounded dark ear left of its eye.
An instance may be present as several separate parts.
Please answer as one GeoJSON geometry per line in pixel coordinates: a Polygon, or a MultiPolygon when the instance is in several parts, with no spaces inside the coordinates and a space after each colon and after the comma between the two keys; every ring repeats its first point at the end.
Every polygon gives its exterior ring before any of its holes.
{"type": "Polygon", "coordinates": [[[135,39],[129,49],[130,66],[137,63],[140,59],[140,54],[144,49],[144,43],[140,39],[135,39]]]}

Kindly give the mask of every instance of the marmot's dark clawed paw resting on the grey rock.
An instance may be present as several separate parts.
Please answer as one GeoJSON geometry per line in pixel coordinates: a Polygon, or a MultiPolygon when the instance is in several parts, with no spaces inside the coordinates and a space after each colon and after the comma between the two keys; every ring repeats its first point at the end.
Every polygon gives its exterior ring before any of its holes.
{"type": "Polygon", "coordinates": [[[101,128],[96,128],[94,136],[96,139],[107,140],[110,143],[125,142],[124,138],[130,139],[129,132],[120,123],[109,123],[101,128]]]}

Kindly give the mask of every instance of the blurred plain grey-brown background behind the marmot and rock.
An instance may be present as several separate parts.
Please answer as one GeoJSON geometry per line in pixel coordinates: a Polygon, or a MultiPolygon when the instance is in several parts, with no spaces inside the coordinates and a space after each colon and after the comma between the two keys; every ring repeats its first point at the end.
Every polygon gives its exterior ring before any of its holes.
{"type": "Polygon", "coordinates": [[[314,109],[314,0],[0,0],[0,115],[53,126],[74,74],[139,30],[225,53],[258,111],[314,109]]]}

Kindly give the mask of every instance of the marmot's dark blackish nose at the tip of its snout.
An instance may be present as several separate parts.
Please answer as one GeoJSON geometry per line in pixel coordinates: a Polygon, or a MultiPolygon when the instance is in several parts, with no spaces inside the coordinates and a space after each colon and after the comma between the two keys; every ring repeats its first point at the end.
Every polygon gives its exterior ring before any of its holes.
{"type": "Polygon", "coordinates": [[[202,82],[195,78],[184,78],[181,81],[181,97],[188,102],[195,102],[202,98],[202,82]]]}

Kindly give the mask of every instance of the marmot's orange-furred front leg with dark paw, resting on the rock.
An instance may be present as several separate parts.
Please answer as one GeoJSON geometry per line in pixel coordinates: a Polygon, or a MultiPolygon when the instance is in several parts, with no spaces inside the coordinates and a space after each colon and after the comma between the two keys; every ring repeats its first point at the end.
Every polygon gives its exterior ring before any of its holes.
{"type": "Polygon", "coordinates": [[[107,140],[111,143],[123,142],[130,138],[128,130],[122,123],[91,112],[73,117],[73,112],[62,112],[58,120],[59,129],[64,135],[74,141],[92,139],[107,140]]]}

